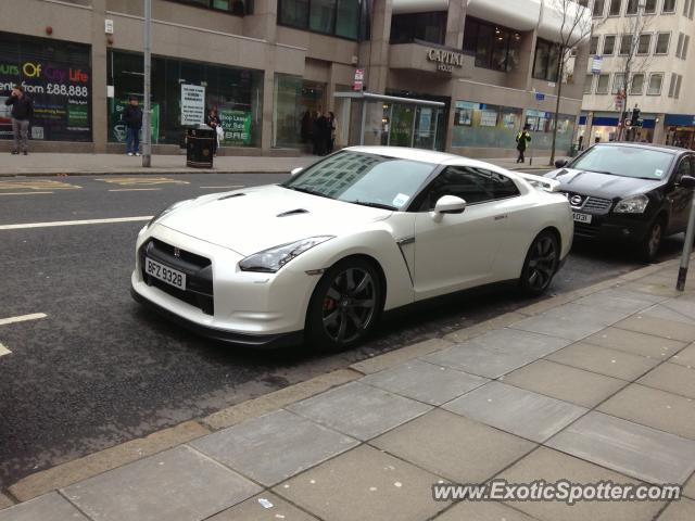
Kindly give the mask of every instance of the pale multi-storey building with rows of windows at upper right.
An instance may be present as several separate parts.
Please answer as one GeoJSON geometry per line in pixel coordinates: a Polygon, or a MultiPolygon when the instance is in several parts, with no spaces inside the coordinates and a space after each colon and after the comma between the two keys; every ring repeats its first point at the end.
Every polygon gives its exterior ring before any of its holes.
{"type": "Polygon", "coordinates": [[[622,134],[622,139],[695,148],[695,100],[686,89],[695,79],[688,59],[695,0],[583,3],[595,21],[579,120],[584,143],[622,134]],[[592,72],[594,56],[601,65],[592,72]],[[643,126],[620,132],[621,109],[631,114],[635,105],[643,126]]]}

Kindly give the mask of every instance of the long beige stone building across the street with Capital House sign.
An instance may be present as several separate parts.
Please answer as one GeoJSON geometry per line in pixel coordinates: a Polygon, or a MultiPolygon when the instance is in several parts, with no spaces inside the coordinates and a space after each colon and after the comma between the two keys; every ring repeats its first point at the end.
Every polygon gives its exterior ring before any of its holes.
{"type": "MultiPolygon", "coordinates": [[[[330,110],[339,147],[506,156],[528,123],[543,155],[560,80],[558,15],[543,3],[152,0],[154,152],[178,150],[186,126],[216,106],[223,154],[305,152],[307,117],[330,110]],[[345,96],[355,89],[375,97],[345,96]]],[[[35,150],[124,150],[121,114],[143,90],[142,10],[142,0],[3,2],[0,102],[24,85],[35,102],[35,150]]],[[[573,62],[586,68],[587,42],[573,62]]],[[[584,75],[564,80],[560,152],[572,140],[584,75]]],[[[0,112],[3,150],[8,117],[0,112]]]]}

